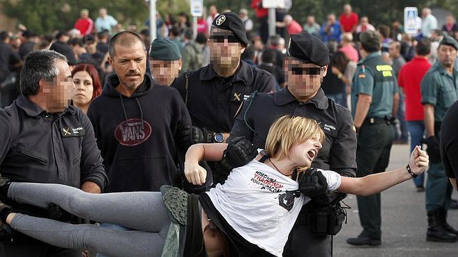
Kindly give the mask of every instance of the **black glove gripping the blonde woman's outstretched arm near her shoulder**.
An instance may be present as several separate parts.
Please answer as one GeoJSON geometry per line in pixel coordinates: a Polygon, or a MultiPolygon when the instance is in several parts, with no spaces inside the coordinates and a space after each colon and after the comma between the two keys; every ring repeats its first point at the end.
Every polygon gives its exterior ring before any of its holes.
{"type": "Polygon", "coordinates": [[[299,191],[312,200],[326,197],[328,181],[316,168],[308,168],[305,172],[300,172],[298,177],[299,191]]]}

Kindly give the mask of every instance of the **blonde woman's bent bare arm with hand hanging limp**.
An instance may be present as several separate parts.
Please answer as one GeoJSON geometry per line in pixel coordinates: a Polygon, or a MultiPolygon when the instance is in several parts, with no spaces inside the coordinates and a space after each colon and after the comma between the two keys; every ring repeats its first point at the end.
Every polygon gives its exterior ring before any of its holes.
{"type": "Polygon", "coordinates": [[[189,183],[202,185],[207,177],[207,170],[198,165],[199,161],[220,161],[227,143],[198,143],[191,145],[185,157],[185,176],[189,183]]]}

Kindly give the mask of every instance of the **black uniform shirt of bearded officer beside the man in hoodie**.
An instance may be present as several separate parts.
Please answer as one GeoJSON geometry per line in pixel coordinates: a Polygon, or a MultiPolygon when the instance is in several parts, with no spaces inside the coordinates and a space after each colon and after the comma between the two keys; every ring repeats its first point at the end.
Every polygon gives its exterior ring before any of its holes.
{"type": "Polygon", "coordinates": [[[275,78],[244,61],[229,78],[219,77],[209,64],[197,71],[183,73],[172,87],[180,91],[191,116],[192,125],[214,132],[230,132],[235,114],[253,91],[275,90],[275,78]],[[188,89],[186,90],[186,76],[188,89]]]}

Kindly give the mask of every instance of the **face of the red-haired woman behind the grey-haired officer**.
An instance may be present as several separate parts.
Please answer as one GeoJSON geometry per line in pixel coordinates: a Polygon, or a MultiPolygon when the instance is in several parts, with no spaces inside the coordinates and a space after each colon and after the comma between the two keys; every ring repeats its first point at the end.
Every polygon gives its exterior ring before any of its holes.
{"type": "Polygon", "coordinates": [[[73,100],[76,106],[89,105],[92,100],[92,93],[94,92],[94,85],[92,77],[87,71],[78,71],[73,76],[73,94],[71,100],[73,100]]]}

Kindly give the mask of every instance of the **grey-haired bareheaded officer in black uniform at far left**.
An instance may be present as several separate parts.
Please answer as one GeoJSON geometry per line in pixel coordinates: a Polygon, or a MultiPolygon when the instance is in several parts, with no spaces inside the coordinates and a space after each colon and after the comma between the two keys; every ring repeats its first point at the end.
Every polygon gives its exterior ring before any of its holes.
{"type": "MultiPolygon", "coordinates": [[[[0,109],[0,172],[12,181],[54,183],[101,193],[108,177],[89,118],[69,106],[74,88],[64,55],[31,52],[24,61],[22,94],[0,109]]],[[[3,198],[3,197],[2,197],[3,198]]],[[[48,211],[1,199],[15,211],[52,218],[48,211]]],[[[0,256],[81,256],[21,233],[0,242],[0,256]]]]}

